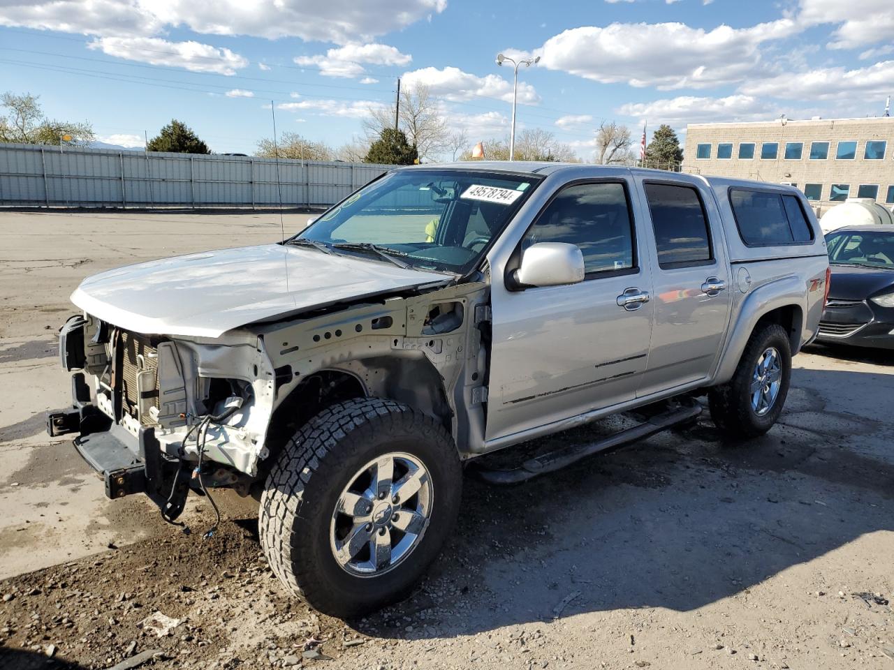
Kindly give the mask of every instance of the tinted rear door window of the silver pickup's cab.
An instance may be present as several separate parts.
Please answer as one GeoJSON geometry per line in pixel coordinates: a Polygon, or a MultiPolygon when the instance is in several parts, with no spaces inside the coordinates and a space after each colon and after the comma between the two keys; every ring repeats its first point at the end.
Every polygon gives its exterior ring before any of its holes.
{"type": "Polygon", "coordinates": [[[711,234],[696,188],[645,183],[662,270],[713,263],[711,234]]]}

